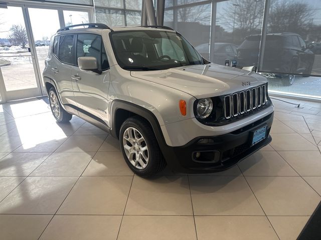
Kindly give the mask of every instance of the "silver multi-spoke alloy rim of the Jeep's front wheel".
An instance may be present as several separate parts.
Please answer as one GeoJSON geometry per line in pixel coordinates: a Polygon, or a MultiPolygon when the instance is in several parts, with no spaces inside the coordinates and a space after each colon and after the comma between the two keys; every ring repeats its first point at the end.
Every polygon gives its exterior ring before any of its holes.
{"type": "Polygon", "coordinates": [[[143,135],[134,127],[123,134],[123,147],[129,162],[137,169],[146,168],[149,160],[148,146],[143,135]]]}

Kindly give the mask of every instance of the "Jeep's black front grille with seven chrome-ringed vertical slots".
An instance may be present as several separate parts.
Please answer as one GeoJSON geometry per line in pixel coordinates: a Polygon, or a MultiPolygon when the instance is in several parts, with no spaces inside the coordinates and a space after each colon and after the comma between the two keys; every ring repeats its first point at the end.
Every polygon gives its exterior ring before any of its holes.
{"type": "Polygon", "coordinates": [[[234,92],[224,96],[224,116],[226,119],[242,115],[266,103],[266,85],[251,87],[245,91],[234,92]]]}

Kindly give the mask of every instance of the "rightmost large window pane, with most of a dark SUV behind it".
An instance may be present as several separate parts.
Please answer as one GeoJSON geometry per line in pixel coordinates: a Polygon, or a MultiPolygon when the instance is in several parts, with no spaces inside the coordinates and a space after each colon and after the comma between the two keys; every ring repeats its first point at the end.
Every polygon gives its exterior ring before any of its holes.
{"type": "Polygon", "coordinates": [[[259,66],[259,71],[273,73],[266,74],[270,91],[321,98],[321,8],[317,2],[271,0],[259,66]]]}

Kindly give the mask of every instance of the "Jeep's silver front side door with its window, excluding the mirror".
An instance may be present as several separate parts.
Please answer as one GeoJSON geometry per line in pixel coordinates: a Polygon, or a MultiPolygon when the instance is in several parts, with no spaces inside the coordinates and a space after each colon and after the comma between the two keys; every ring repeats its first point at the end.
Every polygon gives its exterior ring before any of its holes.
{"type": "Polygon", "coordinates": [[[108,88],[110,81],[109,63],[102,37],[93,33],[79,33],[76,39],[76,59],[94,56],[101,74],[90,70],[80,70],[78,63],[72,67],[71,79],[75,100],[85,114],[92,114],[106,120],[108,116],[108,88]]]}

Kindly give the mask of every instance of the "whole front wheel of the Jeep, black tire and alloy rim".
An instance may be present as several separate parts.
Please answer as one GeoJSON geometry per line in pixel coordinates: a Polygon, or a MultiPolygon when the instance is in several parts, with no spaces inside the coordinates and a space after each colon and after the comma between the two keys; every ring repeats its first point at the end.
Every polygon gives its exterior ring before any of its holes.
{"type": "Polygon", "coordinates": [[[144,118],[126,119],[120,127],[119,142],[126,163],[135,174],[149,177],[165,167],[154,132],[144,118]]]}

